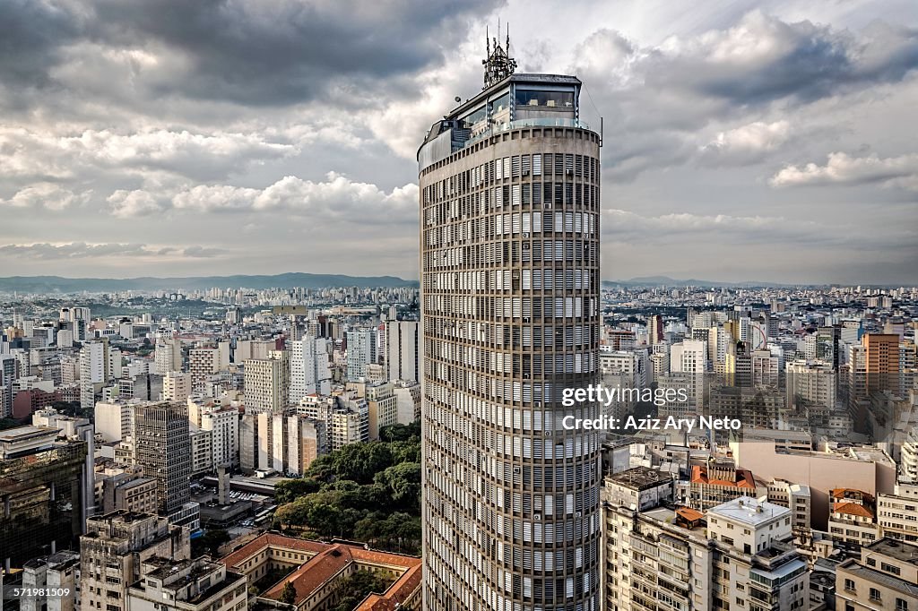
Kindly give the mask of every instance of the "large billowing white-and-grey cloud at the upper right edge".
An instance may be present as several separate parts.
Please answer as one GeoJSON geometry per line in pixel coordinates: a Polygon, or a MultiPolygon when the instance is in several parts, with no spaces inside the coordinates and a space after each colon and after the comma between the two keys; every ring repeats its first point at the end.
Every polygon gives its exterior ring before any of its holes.
{"type": "Polygon", "coordinates": [[[736,107],[782,99],[812,102],[918,68],[918,30],[876,23],[860,39],[810,21],[785,23],[751,13],[737,27],[690,41],[677,55],[651,53],[651,88],[676,87],[736,107]]]}

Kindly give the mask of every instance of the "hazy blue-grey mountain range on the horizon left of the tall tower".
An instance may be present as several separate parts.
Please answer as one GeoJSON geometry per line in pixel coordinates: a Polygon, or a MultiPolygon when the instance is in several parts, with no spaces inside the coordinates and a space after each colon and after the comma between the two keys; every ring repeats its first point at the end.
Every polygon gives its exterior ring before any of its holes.
{"type": "Polygon", "coordinates": [[[279,273],[277,275],[193,276],[188,278],[62,278],[61,276],[11,276],[0,278],[0,291],[12,293],[109,293],[114,291],[194,291],[213,288],[326,288],[358,286],[393,288],[418,286],[417,281],[396,276],[347,276],[331,273],[279,273]]]}

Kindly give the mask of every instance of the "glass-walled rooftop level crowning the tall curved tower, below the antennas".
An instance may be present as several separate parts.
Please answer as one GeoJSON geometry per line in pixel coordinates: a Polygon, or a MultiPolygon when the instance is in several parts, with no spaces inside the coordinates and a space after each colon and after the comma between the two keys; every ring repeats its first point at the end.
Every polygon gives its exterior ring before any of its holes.
{"type": "Polygon", "coordinates": [[[420,170],[468,144],[513,128],[586,128],[579,121],[580,81],[554,74],[513,74],[433,124],[418,150],[420,170]]]}

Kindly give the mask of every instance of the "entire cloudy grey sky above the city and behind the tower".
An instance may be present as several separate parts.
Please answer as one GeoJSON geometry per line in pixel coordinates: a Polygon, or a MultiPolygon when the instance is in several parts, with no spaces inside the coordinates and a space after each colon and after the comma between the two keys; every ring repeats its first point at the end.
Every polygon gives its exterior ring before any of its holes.
{"type": "Polygon", "coordinates": [[[498,18],[605,119],[603,278],[918,283],[914,0],[3,0],[0,276],[417,278],[498,18]]]}

